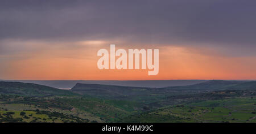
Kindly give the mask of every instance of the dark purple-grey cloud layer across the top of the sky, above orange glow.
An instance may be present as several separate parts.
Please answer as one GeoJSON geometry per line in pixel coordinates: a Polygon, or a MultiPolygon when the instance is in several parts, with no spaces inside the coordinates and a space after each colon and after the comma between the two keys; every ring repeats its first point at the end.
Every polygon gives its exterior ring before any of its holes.
{"type": "Polygon", "coordinates": [[[256,2],[1,1],[0,38],[255,47],[256,2]]]}

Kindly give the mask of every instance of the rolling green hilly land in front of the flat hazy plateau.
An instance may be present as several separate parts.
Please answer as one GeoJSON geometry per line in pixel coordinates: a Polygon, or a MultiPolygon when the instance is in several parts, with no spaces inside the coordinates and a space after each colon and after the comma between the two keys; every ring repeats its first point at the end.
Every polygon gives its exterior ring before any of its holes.
{"type": "Polygon", "coordinates": [[[62,90],[0,81],[0,122],[256,122],[256,81],[183,84],[76,83],[62,90]]]}

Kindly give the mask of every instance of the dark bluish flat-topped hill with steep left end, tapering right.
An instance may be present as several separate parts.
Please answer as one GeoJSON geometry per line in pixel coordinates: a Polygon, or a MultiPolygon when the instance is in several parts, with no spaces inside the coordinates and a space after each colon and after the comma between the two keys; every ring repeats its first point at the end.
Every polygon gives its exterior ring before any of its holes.
{"type": "Polygon", "coordinates": [[[108,100],[130,100],[140,102],[154,102],[166,96],[166,94],[174,94],[168,90],[159,88],[141,88],[141,87],[124,87],[115,85],[100,84],[80,84],[77,83],[71,89],[74,93],[88,95],[108,100]]]}

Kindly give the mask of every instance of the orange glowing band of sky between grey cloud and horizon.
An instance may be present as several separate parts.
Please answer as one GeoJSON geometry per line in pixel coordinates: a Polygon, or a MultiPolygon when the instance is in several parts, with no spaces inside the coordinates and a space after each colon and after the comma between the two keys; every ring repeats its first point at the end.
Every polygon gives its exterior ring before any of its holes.
{"type": "MultiPolygon", "coordinates": [[[[205,50],[177,45],[147,48],[116,44],[117,49],[159,49],[159,74],[148,70],[99,70],[97,51],[110,49],[103,41],[77,42],[77,47],[42,49],[26,53],[2,66],[1,79],[13,80],[181,80],[181,79],[256,79],[255,57],[225,57],[205,54],[205,50]],[[95,44],[88,46],[86,44],[95,44]],[[200,53],[202,51],[202,53],[200,53]],[[5,68],[3,68],[5,67],[5,68]]],[[[40,47],[41,48],[41,47],[40,47]]],[[[19,56],[19,55],[18,55],[19,56]]],[[[17,56],[17,57],[18,57],[17,56]]]]}

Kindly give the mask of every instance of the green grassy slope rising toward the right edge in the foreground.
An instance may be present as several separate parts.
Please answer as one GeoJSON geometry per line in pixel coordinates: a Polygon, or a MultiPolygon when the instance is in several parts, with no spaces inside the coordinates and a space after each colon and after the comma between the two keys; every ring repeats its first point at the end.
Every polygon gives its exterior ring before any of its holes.
{"type": "Polygon", "coordinates": [[[181,104],[131,115],[123,122],[256,122],[255,98],[181,104]]]}

